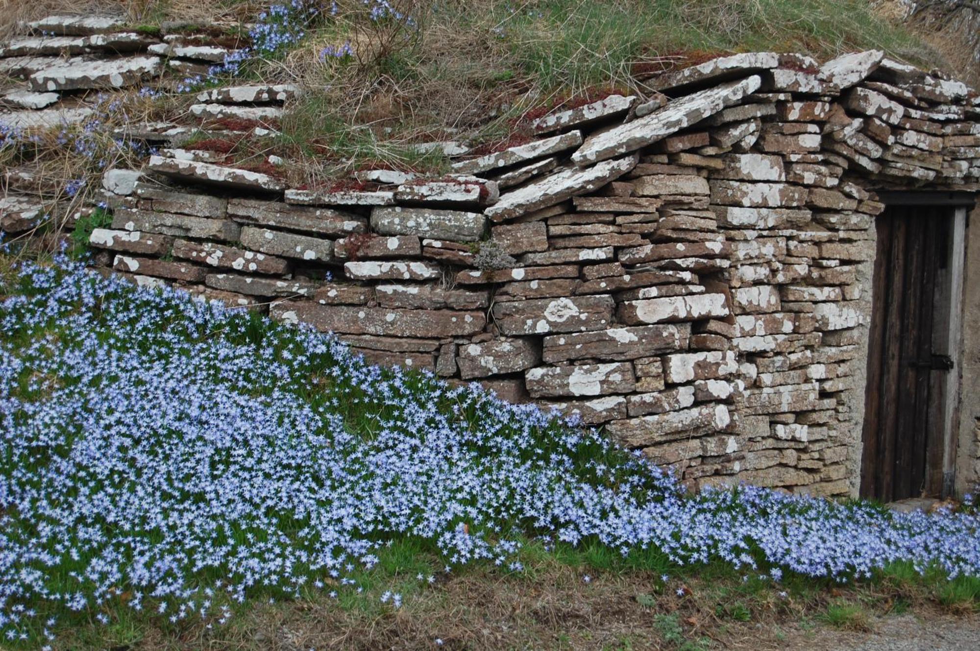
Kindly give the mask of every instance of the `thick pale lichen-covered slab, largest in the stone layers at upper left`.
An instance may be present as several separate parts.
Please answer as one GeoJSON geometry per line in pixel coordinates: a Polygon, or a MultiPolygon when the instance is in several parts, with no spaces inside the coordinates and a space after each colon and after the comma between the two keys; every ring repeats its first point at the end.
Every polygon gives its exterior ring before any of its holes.
{"type": "Polygon", "coordinates": [[[31,89],[87,90],[91,88],[123,88],[160,75],[163,66],[158,57],[137,56],[121,59],[92,59],[74,57],[27,78],[31,89]]]}

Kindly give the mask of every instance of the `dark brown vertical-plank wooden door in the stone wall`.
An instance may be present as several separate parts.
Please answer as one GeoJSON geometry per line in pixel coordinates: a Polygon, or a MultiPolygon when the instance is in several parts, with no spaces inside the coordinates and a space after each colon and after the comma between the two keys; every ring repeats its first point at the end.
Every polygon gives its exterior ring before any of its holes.
{"type": "Polygon", "coordinates": [[[861,486],[885,502],[943,488],[945,379],[953,362],[940,304],[954,210],[896,205],[878,218],[864,394],[861,486]],[[939,344],[939,345],[937,345],[939,344]]]}

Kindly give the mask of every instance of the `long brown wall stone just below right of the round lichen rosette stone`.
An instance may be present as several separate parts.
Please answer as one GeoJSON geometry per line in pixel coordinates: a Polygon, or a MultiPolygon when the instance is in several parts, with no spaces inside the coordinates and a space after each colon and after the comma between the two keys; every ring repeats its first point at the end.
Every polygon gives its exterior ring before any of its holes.
{"type": "Polygon", "coordinates": [[[626,361],[687,348],[691,326],[612,327],[588,332],[551,334],[544,338],[542,359],[548,363],[597,359],[626,361]]]}

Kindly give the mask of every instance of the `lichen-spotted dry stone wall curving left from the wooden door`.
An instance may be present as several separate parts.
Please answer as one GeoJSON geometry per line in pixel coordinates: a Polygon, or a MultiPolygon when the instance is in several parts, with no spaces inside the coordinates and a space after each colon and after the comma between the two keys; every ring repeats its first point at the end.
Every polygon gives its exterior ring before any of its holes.
{"type": "Polygon", "coordinates": [[[692,487],[853,493],[875,190],[978,189],[980,98],[880,52],[741,54],[647,83],[537,120],[529,144],[426,145],[453,156],[442,178],[288,188],[154,156],[106,176],[113,223],[91,244],[141,285],[604,426],[692,487]]]}

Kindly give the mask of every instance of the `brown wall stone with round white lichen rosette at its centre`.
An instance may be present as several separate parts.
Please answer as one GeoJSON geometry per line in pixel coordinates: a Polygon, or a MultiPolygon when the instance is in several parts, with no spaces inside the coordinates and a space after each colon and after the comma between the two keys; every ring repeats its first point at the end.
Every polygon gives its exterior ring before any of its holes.
{"type": "Polygon", "coordinates": [[[603,330],[613,322],[613,297],[576,296],[497,303],[494,323],[507,335],[603,330]]]}

